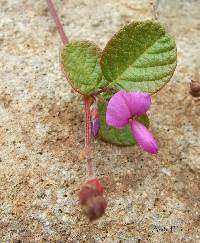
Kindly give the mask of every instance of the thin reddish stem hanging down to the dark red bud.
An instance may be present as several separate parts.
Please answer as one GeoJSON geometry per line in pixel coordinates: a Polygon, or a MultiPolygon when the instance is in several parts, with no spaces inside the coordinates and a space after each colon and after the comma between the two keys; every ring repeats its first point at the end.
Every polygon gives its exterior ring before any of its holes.
{"type": "Polygon", "coordinates": [[[88,173],[89,176],[93,176],[93,163],[90,158],[91,153],[91,113],[90,113],[90,105],[91,105],[91,97],[84,97],[84,105],[85,105],[85,151],[88,152],[88,173]]]}

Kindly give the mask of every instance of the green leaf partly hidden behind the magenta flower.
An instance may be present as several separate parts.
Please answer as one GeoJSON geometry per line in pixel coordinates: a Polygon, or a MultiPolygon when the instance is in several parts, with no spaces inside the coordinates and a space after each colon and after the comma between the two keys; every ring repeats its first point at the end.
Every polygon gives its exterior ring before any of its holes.
{"type": "MultiPolygon", "coordinates": [[[[109,95],[107,96],[109,97],[109,95]]],[[[128,146],[136,144],[131,133],[130,126],[122,129],[116,129],[106,124],[106,107],[107,103],[98,102],[98,110],[100,116],[100,130],[99,135],[102,140],[120,146],[128,146]]],[[[138,118],[138,121],[143,123],[146,127],[149,126],[149,119],[146,114],[138,118]]]]}

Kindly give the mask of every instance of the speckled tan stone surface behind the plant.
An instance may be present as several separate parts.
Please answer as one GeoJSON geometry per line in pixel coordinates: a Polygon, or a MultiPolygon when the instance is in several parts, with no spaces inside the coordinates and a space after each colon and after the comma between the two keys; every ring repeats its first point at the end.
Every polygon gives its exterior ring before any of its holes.
{"type": "MultiPolygon", "coordinates": [[[[101,47],[125,23],[151,18],[147,0],[55,2],[70,40],[101,47]]],[[[200,242],[200,100],[189,95],[200,65],[199,12],[200,1],[160,1],[178,46],[176,72],[150,111],[160,152],[95,141],[108,208],[89,223],[77,197],[87,179],[78,161],[83,104],[61,73],[62,43],[46,1],[1,0],[1,243],[200,242]]]]}

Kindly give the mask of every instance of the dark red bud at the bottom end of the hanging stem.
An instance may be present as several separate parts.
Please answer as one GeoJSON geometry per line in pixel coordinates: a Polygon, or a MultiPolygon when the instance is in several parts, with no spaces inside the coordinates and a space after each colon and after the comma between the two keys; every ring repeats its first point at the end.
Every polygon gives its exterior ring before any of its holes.
{"type": "Polygon", "coordinates": [[[97,179],[86,182],[81,188],[79,193],[80,204],[90,220],[101,217],[106,210],[107,202],[103,197],[103,192],[104,188],[97,179]]]}

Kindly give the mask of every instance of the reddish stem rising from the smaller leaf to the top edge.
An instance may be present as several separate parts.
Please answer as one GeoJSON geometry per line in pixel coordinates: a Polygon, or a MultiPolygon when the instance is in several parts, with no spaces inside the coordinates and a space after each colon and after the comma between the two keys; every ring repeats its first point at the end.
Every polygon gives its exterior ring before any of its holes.
{"type": "Polygon", "coordinates": [[[53,17],[53,20],[55,22],[56,29],[57,29],[58,33],[60,34],[60,38],[61,38],[63,44],[65,45],[69,42],[69,40],[68,40],[68,38],[67,38],[67,36],[64,32],[63,25],[61,24],[61,21],[58,17],[55,6],[54,6],[52,0],[47,0],[47,4],[48,4],[48,7],[49,7],[49,11],[51,12],[51,15],[53,17]]]}

